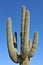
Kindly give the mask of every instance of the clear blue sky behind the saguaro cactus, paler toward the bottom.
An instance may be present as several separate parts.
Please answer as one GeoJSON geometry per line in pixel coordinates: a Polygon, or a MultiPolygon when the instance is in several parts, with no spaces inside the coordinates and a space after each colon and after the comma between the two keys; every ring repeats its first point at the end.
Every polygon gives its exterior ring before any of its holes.
{"type": "MultiPolygon", "coordinates": [[[[6,39],[7,18],[12,18],[12,32],[18,34],[20,46],[21,7],[30,10],[30,39],[35,31],[39,33],[38,48],[30,65],[43,64],[43,0],[0,0],[0,65],[17,65],[8,55],[6,39]]],[[[18,47],[18,50],[20,47],[18,47]]],[[[19,65],[19,64],[18,64],[19,65]]]]}

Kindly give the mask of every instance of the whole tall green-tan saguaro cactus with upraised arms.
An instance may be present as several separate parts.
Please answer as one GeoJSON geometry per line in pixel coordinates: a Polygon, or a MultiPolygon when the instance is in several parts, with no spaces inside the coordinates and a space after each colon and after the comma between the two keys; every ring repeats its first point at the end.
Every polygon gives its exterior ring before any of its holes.
{"type": "Polygon", "coordinates": [[[8,52],[10,58],[20,65],[30,65],[30,58],[36,52],[38,43],[38,33],[34,33],[33,42],[29,40],[29,27],[30,27],[30,11],[26,10],[25,6],[22,7],[22,18],[21,18],[21,52],[18,54],[17,50],[17,32],[14,32],[12,36],[12,20],[7,20],[7,43],[8,52]]]}

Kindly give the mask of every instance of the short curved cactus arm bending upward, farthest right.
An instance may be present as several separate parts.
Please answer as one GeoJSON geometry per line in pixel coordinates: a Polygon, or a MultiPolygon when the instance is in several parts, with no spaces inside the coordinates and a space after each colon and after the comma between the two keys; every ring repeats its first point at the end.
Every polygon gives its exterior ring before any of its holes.
{"type": "Polygon", "coordinates": [[[35,54],[36,52],[36,49],[37,49],[37,44],[38,44],[38,33],[35,32],[34,33],[34,39],[33,39],[33,45],[32,45],[32,48],[29,52],[29,57],[33,57],[33,55],[35,54]]]}

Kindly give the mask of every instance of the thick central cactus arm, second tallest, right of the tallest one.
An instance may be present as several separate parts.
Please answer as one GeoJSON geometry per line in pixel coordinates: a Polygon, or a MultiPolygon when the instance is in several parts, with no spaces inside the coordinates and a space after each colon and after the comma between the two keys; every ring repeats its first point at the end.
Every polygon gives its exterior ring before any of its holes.
{"type": "MultiPolygon", "coordinates": [[[[28,52],[28,37],[29,37],[29,25],[30,25],[30,12],[26,10],[25,14],[25,29],[24,29],[24,52],[28,52]]],[[[26,53],[27,53],[26,52],[26,53]]]]}

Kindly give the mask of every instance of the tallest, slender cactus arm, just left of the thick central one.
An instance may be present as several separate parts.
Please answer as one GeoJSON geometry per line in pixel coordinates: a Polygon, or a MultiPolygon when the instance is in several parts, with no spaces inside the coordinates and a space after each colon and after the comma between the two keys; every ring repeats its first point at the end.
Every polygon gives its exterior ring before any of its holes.
{"type": "Polygon", "coordinates": [[[25,6],[22,7],[22,18],[21,18],[21,56],[23,54],[24,46],[24,25],[25,25],[25,6]]]}

